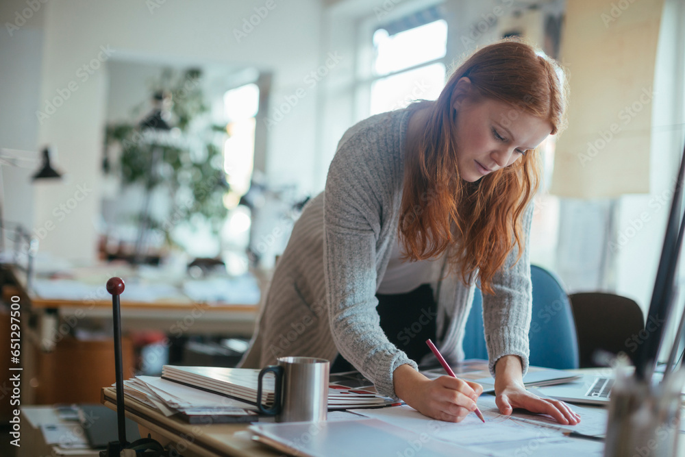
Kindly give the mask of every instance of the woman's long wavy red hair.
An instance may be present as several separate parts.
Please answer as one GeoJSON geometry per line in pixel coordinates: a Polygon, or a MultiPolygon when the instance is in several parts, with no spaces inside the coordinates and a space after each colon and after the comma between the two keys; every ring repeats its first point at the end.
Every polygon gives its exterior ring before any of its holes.
{"type": "MultiPolygon", "coordinates": [[[[454,71],[436,101],[418,145],[408,151],[399,235],[405,258],[435,258],[447,250],[453,271],[468,284],[477,274],[493,293],[493,276],[514,246],[524,248],[522,219],[540,182],[537,150],[475,183],[460,178],[452,95],[462,77],[475,97],[487,97],[549,121],[552,134],[564,127],[566,78],[560,66],[518,40],[479,49],[454,71]]],[[[517,259],[518,261],[518,259],[517,259]]]]}

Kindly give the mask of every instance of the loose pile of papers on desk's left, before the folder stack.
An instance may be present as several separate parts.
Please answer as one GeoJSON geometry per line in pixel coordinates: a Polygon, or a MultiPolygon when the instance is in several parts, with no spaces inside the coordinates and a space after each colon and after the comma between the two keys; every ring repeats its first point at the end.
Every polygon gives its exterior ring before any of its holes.
{"type": "Polygon", "coordinates": [[[190,423],[247,422],[256,420],[255,406],[236,399],[201,391],[154,376],[136,376],[124,381],[124,394],[190,423]]]}

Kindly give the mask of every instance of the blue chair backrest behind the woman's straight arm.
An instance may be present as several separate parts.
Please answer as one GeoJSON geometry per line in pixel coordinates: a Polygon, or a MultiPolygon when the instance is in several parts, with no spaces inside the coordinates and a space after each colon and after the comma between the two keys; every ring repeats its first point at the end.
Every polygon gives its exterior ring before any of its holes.
{"type": "MultiPolygon", "coordinates": [[[[578,341],[571,301],[560,281],[549,271],[530,266],[533,312],[528,338],[530,365],[555,369],[579,366],[578,341]]],[[[466,358],[488,358],[483,330],[483,298],[479,289],[464,330],[466,358]]]]}

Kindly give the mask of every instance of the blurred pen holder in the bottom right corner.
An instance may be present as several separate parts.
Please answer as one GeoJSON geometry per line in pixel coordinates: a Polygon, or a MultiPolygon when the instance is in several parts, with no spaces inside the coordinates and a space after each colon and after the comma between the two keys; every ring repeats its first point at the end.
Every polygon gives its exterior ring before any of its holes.
{"type": "Polygon", "coordinates": [[[682,381],[682,373],[667,376],[657,385],[617,373],[604,457],[676,456],[682,381]]]}

